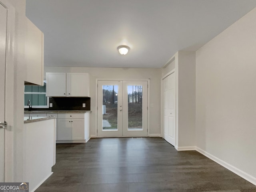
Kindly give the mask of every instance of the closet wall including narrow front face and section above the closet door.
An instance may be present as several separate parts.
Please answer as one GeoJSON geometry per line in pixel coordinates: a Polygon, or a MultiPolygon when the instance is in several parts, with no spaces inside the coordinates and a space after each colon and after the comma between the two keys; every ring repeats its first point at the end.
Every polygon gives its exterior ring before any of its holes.
{"type": "Polygon", "coordinates": [[[196,146],[196,52],[178,51],[162,68],[162,77],[176,72],[176,148],[196,146]]]}

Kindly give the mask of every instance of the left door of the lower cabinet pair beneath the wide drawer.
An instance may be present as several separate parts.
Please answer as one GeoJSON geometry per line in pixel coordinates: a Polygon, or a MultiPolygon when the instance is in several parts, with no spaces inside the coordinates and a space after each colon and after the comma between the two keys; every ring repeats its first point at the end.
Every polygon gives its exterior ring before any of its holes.
{"type": "Polygon", "coordinates": [[[58,119],[58,140],[71,140],[71,119],[58,119]]]}

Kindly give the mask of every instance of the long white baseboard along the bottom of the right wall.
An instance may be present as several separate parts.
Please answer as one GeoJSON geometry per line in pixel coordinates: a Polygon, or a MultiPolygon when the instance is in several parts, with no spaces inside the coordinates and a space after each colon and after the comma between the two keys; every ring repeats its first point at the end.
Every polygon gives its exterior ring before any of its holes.
{"type": "Polygon", "coordinates": [[[211,160],[215,161],[216,163],[220,164],[221,166],[224,166],[228,170],[234,172],[238,176],[240,176],[240,177],[244,178],[245,180],[251,182],[252,184],[256,185],[256,178],[254,176],[240,170],[239,168],[236,168],[235,166],[219,159],[218,157],[202,150],[201,148],[196,147],[196,150],[198,152],[200,152],[201,154],[203,154],[204,156],[206,156],[206,157],[210,158],[211,160]]]}

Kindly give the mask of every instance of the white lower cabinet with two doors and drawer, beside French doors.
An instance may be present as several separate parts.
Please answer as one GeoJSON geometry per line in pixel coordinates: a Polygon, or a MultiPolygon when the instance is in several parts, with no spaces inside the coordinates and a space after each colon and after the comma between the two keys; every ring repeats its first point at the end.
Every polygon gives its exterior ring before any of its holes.
{"type": "Polygon", "coordinates": [[[84,113],[58,114],[58,143],[69,140],[76,143],[75,140],[85,140],[84,129],[84,113]]]}

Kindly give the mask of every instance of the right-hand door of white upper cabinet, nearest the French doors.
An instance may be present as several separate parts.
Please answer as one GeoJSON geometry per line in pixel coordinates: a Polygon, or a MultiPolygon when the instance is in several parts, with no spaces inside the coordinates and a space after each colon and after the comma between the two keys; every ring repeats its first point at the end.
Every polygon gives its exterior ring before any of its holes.
{"type": "Polygon", "coordinates": [[[88,73],[67,73],[67,96],[89,97],[88,73]]]}

